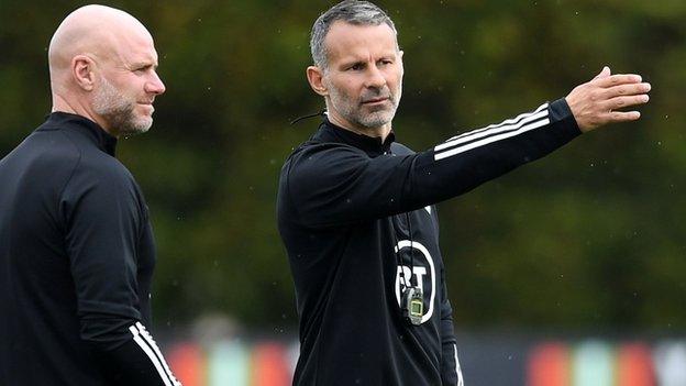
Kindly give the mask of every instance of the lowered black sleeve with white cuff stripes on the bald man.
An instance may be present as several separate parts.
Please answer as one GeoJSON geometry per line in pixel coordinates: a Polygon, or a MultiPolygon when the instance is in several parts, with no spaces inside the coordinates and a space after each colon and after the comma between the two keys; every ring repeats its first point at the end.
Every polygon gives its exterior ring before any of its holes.
{"type": "Polygon", "coordinates": [[[136,187],[118,168],[77,167],[60,207],[81,339],[118,384],[179,385],[141,323],[136,187]]]}

